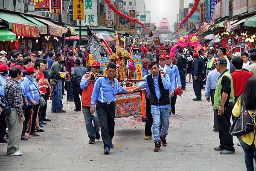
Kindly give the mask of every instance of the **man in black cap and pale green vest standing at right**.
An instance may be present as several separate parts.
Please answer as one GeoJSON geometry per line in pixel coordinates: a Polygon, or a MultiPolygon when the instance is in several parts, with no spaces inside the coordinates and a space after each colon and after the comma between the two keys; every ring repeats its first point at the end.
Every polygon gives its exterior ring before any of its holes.
{"type": "Polygon", "coordinates": [[[234,154],[233,137],[229,133],[230,118],[234,106],[233,79],[227,69],[227,60],[225,58],[218,58],[215,66],[221,75],[218,78],[213,104],[213,108],[218,112],[217,121],[220,145],[215,147],[214,150],[220,151],[220,154],[234,154]]]}

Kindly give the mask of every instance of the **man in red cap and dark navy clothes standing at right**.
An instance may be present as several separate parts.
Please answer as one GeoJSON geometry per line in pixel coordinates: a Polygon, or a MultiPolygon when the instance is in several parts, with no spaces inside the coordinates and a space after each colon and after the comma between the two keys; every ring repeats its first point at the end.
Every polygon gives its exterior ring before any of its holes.
{"type": "Polygon", "coordinates": [[[193,54],[194,58],[194,64],[193,64],[193,70],[192,70],[192,76],[193,76],[193,89],[195,92],[196,98],[194,98],[194,101],[201,101],[202,99],[202,93],[201,93],[201,87],[202,85],[202,77],[203,77],[203,69],[204,69],[204,62],[199,58],[199,55],[197,52],[193,54]]]}

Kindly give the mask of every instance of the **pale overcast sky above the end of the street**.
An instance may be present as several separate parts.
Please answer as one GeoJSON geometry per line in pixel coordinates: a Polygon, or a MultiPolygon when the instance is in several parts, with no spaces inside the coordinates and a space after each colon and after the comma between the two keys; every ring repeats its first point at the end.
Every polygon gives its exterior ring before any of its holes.
{"type": "MultiPolygon", "coordinates": [[[[162,17],[168,17],[169,25],[176,21],[176,14],[179,14],[179,0],[145,0],[146,10],[151,11],[151,23],[156,23],[159,26],[162,17]]],[[[184,0],[184,8],[193,0],[184,0]]]]}

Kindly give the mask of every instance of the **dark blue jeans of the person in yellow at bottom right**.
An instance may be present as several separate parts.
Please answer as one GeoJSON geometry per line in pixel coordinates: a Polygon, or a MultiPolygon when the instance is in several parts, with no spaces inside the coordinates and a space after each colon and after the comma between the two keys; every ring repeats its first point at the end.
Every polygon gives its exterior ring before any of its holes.
{"type": "Polygon", "coordinates": [[[254,171],[253,168],[253,158],[256,160],[256,148],[254,143],[252,145],[246,144],[242,138],[238,137],[239,142],[244,150],[244,162],[246,165],[247,171],[254,171]]]}

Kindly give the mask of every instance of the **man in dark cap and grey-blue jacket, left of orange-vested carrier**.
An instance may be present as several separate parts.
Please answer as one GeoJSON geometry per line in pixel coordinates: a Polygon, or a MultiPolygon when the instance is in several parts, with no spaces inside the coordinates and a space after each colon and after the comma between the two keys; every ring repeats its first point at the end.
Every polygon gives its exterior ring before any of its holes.
{"type": "Polygon", "coordinates": [[[71,84],[73,84],[73,95],[74,95],[74,101],[75,101],[75,111],[81,110],[81,101],[80,96],[82,96],[82,89],[80,88],[80,83],[83,75],[87,71],[84,67],[81,67],[81,61],[79,59],[76,59],[76,61],[73,62],[74,67],[71,70],[71,84]]]}

